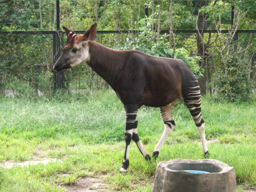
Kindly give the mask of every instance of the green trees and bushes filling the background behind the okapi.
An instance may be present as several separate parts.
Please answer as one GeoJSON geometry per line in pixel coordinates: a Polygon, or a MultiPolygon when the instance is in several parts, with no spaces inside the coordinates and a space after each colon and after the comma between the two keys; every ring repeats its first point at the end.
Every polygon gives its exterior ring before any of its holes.
{"type": "MultiPolygon", "coordinates": [[[[0,0],[2,32],[55,31],[56,20],[56,1],[0,0]]],[[[120,31],[98,34],[97,41],[107,47],[185,60],[200,78],[203,94],[219,93],[231,101],[251,97],[256,79],[254,0],[60,0],[61,26],[81,31],[95,21],[98,30],[120,31]]],[[[52,43],[49,34],[0,35],[1,94],[52,93],[52,43]]],[[[65,81],[72,93],[107,86],[86,64],[66,70],[65,81]]]]}

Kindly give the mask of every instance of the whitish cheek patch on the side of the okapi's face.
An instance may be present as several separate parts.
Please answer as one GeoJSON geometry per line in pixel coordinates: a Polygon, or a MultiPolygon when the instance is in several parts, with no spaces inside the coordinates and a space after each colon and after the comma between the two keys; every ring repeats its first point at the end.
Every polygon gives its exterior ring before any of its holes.
{"type": "Polygon", "coordinates": [[[75,55],[75,57],[71,60],[71,64],[70,64],[71,67],[76,66],[82,61],[88,62],[90,60],[89,46],[87,43],[80,43],[76,47],[81,50],[77,51],[78,53],[75,53],[75,54],[79,54],[80,52],[81,55],[80,57],[77,57],[75,55]]]}

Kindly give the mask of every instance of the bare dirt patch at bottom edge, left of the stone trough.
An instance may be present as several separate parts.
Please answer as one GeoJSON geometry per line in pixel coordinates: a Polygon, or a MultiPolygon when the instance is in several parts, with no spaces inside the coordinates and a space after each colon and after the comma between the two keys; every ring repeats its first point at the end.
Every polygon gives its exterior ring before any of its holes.
{"type": "Polygon", "coordinates": [[[106,175],[100,177],[84,177],[75,184],[67,186],[69,192],[97,192],[109,191],[108,184],[104,181],[106,175]]]}

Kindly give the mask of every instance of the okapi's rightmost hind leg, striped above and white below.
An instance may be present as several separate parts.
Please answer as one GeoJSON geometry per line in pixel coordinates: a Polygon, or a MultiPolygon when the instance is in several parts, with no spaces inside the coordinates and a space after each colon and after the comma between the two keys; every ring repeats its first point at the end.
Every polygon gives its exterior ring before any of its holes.
{"type": "Polygon", "coordinates": [[[189,112],[192,115],[192,118],[195,122],[195,125],[198,128],[198,132],[201,137],[204,157],[209,157],[209,152],[207,148],[206,138],[205,138],[205,123],[201,115],[201,93],[198,81],[194,76],[192,76],[191,85],[188,87],[186,97],[184,97],[184,102],[186,107],[189,109],[189,112]]]}

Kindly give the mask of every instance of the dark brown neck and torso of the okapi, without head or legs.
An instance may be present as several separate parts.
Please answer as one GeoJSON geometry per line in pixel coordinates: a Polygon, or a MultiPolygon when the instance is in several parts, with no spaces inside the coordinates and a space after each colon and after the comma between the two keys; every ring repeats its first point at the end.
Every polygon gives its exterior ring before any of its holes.
{"type": "Polygon", "coordinates": [[[88,44],[90,55],[97,55],[90,58],[89,66],[108,82],[124,105],[168,105],[183,96],[183,81],[193,75],[180,59],[109,49],[95,41],[88,44]]]}

